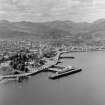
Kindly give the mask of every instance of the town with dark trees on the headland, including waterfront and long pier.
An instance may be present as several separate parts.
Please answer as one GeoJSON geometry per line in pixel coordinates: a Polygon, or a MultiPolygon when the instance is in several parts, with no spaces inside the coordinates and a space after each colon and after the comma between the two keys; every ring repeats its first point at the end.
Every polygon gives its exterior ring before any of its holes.
{"type": "MultiPolygon", "coordinates": [[[[26,41],[1,42],[1,74],[0,79],[16,78],[21,81],[24,77],[37,74],[41,71],[56,72],[53,77],[63,76],[81,71],[72,66],[59,67],[62,54],[69,53],[65,46],[52,47],[26,41]],[[6,65],[6,66],[5,66],[6,65]],[[7,70],[5,70],[7,67],[7,70]],[[4,69],[4,71],[3,71],[4,69]],[[63,71],[63,72],[62,72],[63,71]]],[[[74,57],[68,57],[74,58],[74,57]]]]}

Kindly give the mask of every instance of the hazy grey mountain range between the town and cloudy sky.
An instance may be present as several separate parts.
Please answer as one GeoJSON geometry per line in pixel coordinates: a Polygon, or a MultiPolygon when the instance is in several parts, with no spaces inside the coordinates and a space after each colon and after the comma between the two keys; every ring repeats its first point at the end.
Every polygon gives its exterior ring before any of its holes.
{"type": "Polygon", "coordinates": [[[73,21],[35,23],[1,20],[0,39],[31,39],[57,44],[100,46],[105,40],[105,19],[93,23],[73,21]]]}

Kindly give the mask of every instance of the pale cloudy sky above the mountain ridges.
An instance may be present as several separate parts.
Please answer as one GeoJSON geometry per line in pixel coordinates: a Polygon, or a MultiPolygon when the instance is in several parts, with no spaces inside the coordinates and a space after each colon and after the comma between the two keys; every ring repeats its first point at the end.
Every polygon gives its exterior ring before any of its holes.
{"type": "Polygon", "coordinates": [[[105,18],[105,0],[0,0],[0,20],[92,22],[105,18]]]}

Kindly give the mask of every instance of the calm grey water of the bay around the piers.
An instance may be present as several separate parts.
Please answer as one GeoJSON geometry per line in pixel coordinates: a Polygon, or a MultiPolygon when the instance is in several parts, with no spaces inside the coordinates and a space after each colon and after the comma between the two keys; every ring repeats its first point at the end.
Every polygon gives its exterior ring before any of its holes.
{"type": "Polygon", "coordinates": [[[23,83],[0,84],[0,105],[105,105],[105,52],[72,53],[82,72],[58,80],[41,73],[23,83]]]}

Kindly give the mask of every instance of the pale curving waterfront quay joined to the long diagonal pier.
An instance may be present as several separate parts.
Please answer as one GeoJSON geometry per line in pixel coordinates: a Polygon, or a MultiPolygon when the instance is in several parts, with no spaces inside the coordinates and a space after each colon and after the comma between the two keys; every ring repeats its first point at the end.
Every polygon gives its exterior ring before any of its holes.
{"type": "Polygon", "coordinates": [[[50,78],[56,78],[56,77],[58,78],[62,75],[71,74],[71,73],[74,73],[74,72],[77,72],[77,71],[81,71],[81,69],[78,69],[78,70],[73,69],[72,71],[69,70],[69,71],[66,71],[66,73],[62,72],[62,74],[61,73],[59,74],[59,72],[61,72],[64,69],[64,67],[60,67],[57,64],[60,62],[59,61],[60,57],[64,53],[68,53],[68,52],[58,50],[56,56],[52,57],[53,60],[47,59],[47,58],[45,59],[46,63],[43,66],[38,67],[38,68],[30,68],[28,66],[29,72],[24,72],[24,73],[21,72],[19,74],[12,74],[12,75],[1,75],[0,80],[15,78],[15,79],[20,81],[23,78],[26,78],[26,77],[31,76],[31,75],[38,74],[40,72],[45,72],[45,71],[56,72],[56,74],[54,76],[51,76],[50,78]]]}

